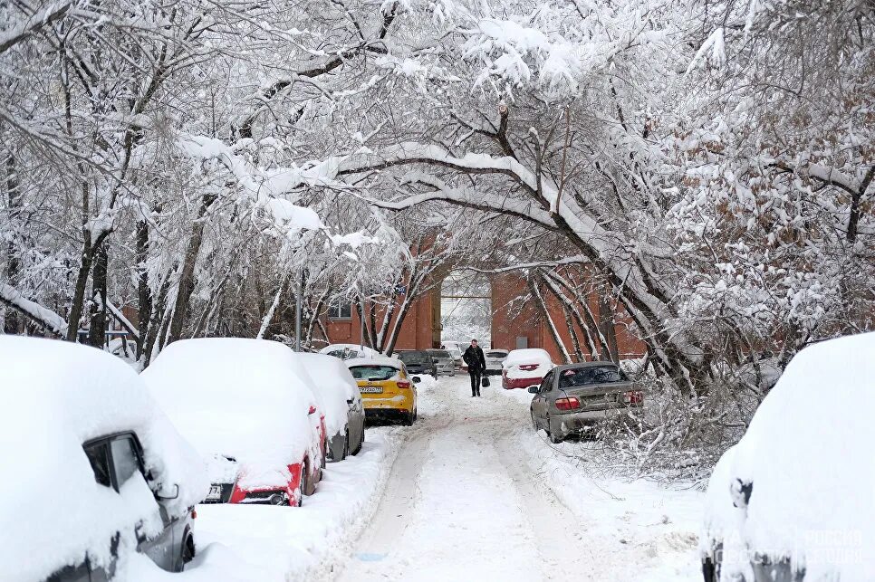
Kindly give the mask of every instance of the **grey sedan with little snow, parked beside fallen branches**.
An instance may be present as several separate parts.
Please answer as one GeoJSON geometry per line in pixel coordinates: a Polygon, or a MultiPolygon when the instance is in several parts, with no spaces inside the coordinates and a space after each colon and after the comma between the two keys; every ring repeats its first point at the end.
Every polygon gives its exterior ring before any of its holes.
{"type": "Polygon", "coordinates": [[[534,394],[529,410],[535,430],[543,428],[551,443],[605,418],[625,415],[644,405],[643,394],[612,362],[586,362],[554,367],[534,394]]]}

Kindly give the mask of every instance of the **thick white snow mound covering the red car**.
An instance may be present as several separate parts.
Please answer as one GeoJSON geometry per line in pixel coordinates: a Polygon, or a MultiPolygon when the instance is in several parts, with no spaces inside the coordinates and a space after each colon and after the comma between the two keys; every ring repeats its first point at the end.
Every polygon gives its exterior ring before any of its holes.
{"type": "Polygon", "coordinates": [[[207,460],[220,454],[242,463],[242,486],[287,482],[288,465],[311,448],[312,379],[279,342],[183,339],[141,376],[207,460]]]}

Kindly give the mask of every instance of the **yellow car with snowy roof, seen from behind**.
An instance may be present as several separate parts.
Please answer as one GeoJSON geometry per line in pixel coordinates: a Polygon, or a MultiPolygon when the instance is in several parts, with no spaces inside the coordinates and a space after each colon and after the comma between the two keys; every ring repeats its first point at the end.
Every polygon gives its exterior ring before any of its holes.
{"type": "Polygon", "coordinates": [[[399,417],[405,425],[417,419],[418,377],[410,377],[404,363],[395,358],[374,357],[346,360],[361,392],[366,416],[399,417]]]}

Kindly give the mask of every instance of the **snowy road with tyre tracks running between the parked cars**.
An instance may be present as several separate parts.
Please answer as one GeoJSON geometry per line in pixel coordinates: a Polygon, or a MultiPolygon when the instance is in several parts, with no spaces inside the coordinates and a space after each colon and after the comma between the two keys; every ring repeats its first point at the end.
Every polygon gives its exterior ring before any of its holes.
{"type": "Polygon", "coordinates": [[[340,580],[628,580],[640,573],[637,547],[589,528],[529,468],[518,442],[528,424],[524,395],[499,390],[471,398],[467,378],[457,377],[423,391],[420,421],[340,580]]]}

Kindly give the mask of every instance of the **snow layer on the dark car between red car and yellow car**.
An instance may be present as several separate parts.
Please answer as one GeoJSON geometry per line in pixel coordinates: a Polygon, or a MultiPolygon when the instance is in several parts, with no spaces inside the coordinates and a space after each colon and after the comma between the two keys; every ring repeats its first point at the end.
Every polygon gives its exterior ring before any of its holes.
{"type": "Polygon", "coordinates": [[[313,380],[313,392],[325,415],[328,437],[343,434],[350,413],[349,400],[359,388],[341,359],[323,354],[295,354],[303,369],[313,380]]]}

